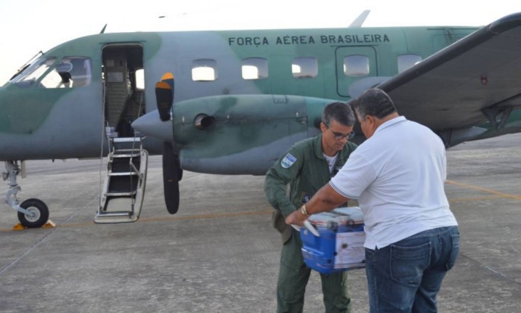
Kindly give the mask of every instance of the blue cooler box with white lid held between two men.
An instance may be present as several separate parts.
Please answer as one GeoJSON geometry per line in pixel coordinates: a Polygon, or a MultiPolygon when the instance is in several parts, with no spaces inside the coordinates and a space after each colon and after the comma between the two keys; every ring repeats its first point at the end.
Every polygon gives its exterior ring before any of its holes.
{"type": "Polygon", "coordinates": [[[309,222],[319,234],[300,230],[302,256],[309,268],[324,274],[365,268],[364,216],[358,207],[315,214],[309,222]]]}

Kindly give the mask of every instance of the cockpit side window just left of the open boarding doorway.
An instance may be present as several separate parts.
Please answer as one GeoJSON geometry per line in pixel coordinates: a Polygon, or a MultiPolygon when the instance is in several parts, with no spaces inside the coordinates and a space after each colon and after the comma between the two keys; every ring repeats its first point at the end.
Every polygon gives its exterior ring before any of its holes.
{"type": "Polygon", "coordinates": [[[65,57],[42,79],[45,88],[83,87],[91,84],[91,60],[86,57],[65,57]]]}

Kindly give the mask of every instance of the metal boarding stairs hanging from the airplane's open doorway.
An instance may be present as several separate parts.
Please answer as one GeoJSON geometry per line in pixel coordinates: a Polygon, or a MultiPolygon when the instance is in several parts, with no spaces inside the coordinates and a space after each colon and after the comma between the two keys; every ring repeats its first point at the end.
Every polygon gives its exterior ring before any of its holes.
{"type": "Polygon", "coordinates": [[[145,195],[148,152],[141,137],[109,137],[107,176],[95,223],[125,223],[139,219],[145,195]]]}

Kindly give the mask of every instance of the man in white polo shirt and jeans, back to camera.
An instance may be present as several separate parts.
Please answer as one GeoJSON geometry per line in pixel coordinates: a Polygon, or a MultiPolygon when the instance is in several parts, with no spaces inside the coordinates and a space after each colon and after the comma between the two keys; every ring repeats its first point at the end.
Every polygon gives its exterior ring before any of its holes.
{"type": "Polygon", "coordinates": [[[430,129],[400,116],[382,90],[352,103],[367,140],[286,222],[302,226],[308,215],[358,198],[370,311],[436,312],[460,240],[443,188],[445,147],[430,129]]]}

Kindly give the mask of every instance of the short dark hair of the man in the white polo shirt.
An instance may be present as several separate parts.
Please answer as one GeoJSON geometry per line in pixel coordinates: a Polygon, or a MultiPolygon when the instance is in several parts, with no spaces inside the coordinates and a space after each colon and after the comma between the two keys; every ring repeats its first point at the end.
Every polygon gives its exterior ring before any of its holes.
{"type": "Polygon", "coordinates": [[[396,111],[389,95],[381,89],[371,88],[354,98],[351,102],[360,118],[370,115],[382,119],[396,111]]]}

